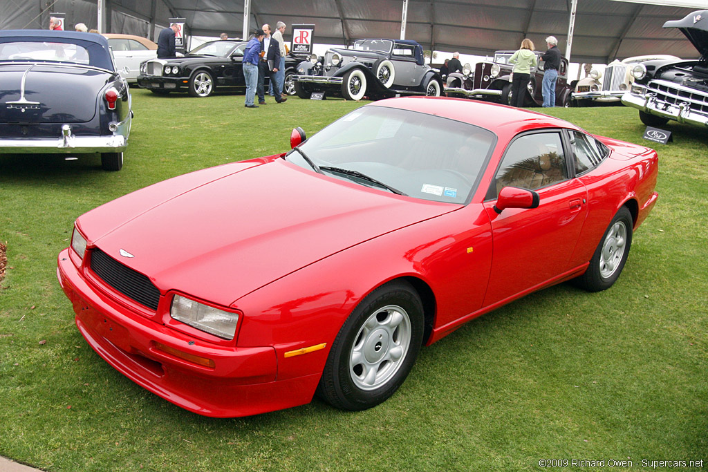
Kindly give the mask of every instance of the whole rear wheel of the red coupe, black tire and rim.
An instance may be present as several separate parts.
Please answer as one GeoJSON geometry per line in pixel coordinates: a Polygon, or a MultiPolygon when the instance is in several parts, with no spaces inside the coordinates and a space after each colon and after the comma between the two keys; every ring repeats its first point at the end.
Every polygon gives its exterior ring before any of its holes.
{"type": "Polygon", "coordinates": [[[612,287],[622,273],[632,248],[633,223],[629,209],[620,208],[595,249],[588,270],[573,280],[578,287],[588,292],[600,292],[612,287]]]}

